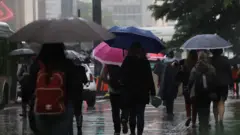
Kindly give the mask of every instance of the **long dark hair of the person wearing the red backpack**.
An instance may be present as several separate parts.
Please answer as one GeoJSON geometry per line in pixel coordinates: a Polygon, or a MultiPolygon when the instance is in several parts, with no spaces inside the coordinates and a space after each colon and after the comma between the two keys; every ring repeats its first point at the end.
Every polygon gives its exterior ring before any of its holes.
{"type": "Polygon", "coordinates": [[[53,70],[64,70],[66,62],[64,44],[43,44],[37,60],[45,65],[45,70],[48,73],[46,80],[49,82],[53,70]]]}

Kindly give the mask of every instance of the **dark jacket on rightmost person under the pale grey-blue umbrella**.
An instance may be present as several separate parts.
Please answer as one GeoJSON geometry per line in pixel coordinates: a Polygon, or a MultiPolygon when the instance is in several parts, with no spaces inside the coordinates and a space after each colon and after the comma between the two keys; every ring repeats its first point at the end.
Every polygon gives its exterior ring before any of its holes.
{"type": "Polygon", "coordinates": [[[213,56],[211,64],[216,70],[217,86],[227,86],[233,83],[231,65],[227,57],[213,56]]]}

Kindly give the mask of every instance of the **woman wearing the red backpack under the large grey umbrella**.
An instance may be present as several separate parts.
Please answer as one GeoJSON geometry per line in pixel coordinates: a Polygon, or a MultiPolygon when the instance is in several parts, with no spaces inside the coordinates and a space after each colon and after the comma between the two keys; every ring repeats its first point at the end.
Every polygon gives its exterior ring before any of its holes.
{"type": "MultiPolygon", "coordinates": [[[[65,46],[63,43],[54,43],[54,44],[43,44],[42,49],[36,58],[35,62],[30,68],[30,90],[31,94],[33,95],[33,105],[31,106],[34,108],[34,115],[35,115],[35,121],[36,121],[36,127],[38,129],[38,134],[40,135],[68,135],[69,129],[72,125],[73,120],[73,104],[79,100],[81,101],[81,95],[80,95],[80,89],[81,89],[81,83],[79,83],[80,75],[78,74],[77,67],[73,64],[72,61],[68,60],[65,56],[65,46]],[[40,75],[44,75],[41,73],[41,71],[44,71],[45,79],[41,78],[40,75]],[[59,74],[54,74],[56,72],[59,72],[59,74]],[[46,83],[48,85],[51,82],[51,85],[56,85],[57,80],[55,80],[54,83],[52,83],[52,79],[56,79],[56,76],[59,77],[61,75],[60,73],[63,73],[63,100],[59,100],[61,102],[61,106],[64,106],[64,111],[62,111],[59,114],[53,114],[49,115],[46,114],[40,114],[43,108],[38,108],[40,104],[43,104],[43,102],[40,102],[39,100],[43,97],[41,96],[39,87],[39,82],[41,79],[46,80],[46,83]],[[55,75],[55,76],[53,76],[55,75]],[[55,77],[55,78],[54,78],[55,77]],[[41,78],[41,79],[40,79],[41,78]]],[[[47,86],[44,86],[47,87],[47,86]]],[[[52,86],[52,87],[58,87],[58,86],[52,86]]],[[[47,87],[46,91],[48,88],[47,87]]],[[[54,89],[52,89],[54,90],[54,89]]],[[[55,93],[56,94],[56,93],[55,93]]],[[[44,95],[46,99],[51,99],[54,97],[49,98],[48,94],[44,95]]],[[[47,102],[47,101],[45,101],[47,102]]],[[[46,110],[51,110],[51,104],[47,104],[45,107],[46,110]]],[[[62,106],[62,107],[63,107],[62,106]]],[[[55,106],[56,107],[56,106],[55,106]]],[[[61,107],[61,108],[62,108],[61,107]]]]}

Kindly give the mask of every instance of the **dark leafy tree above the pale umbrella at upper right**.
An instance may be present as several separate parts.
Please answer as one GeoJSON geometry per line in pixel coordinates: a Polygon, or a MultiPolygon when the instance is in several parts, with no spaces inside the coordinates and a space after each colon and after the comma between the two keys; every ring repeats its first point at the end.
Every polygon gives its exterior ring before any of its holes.
{"type": "Polygon", "coordinates": [[[240,52],[239,0],[157,0],[149,8],[155,19],[178,20],[169,45],[180,46],[197,34],[218,34],[240,52]]]}

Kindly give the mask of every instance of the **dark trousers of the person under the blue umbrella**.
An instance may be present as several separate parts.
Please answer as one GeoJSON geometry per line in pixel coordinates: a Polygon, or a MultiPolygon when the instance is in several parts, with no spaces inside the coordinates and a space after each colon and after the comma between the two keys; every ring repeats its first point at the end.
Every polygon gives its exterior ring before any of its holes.
{"type": "Polygon", "coordinates": [[[144,130],[144,112],[146,104],[136,104],[130,108],[130,130],[131,133],[135,133],[137,125],[137,135],[142,135],[144,130]]]}

